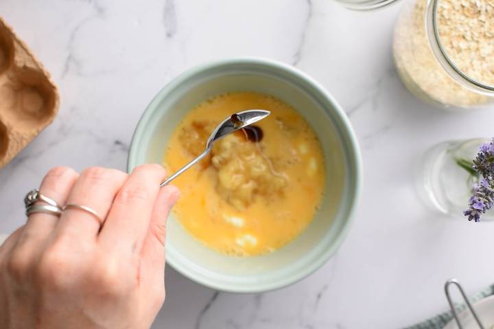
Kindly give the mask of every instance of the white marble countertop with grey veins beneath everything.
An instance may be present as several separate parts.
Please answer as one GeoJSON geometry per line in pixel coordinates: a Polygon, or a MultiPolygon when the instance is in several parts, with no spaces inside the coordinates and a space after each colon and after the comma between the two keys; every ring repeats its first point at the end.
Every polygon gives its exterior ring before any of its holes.
{"type": "Polygon", "coordinates": [[[412,189],[434,143],[492,136],[494,108],[449,113],[414,99],[392,64],[402,3],[351,12],[331,0],[0,0],[60,87],[56,121],[0,170],[0,232],[55,165],[125,169],[145,106],[175,75],[211,59],[263,56],[297,66],[340,101],[364,160],[357,218],[339,252],[292,287],[217,293],[167,269],[153,328],[400,328],[447,307],[443,283],[494,282],[494,224],[438,217],[412,189]],[[493,235],[491,235],[493,234],[493,235]]]}

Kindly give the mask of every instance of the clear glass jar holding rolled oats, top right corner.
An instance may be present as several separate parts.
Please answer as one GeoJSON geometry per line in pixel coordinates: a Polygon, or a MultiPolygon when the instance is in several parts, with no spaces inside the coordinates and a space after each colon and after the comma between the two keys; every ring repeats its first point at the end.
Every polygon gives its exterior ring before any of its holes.
{"type": "MultiPolygon", "coordinates": [[[[438,29],[441,24],[447,25],[440,23],[445,20],[445,9],[441,9],[443,13],[438,18],[441,1],[444,0],[413,0],[403,8],[393,39],[393,56],[399,76],[413,95],[442,108],[481,108],[492,105],[494,86],[479,82],[461,71],[441,44],[438,29]]],[[[460,6],[464,2],[455,1],[460,6]]],[[[443,3],[442,8],[451,3],[452,1],[443,3]]],[[[463,28],[467,36],[470,36],[468,33],[473,33],[469,26],[465,25],[463,28]]],[[[448,32],[454,33],[454,30],[450,28],[448,32]]],[[[479,44],[473,41],[467,47],[474,49],[476,45],[479,44]]],[[[464,60],[462,65],[475,64],[464,64],[466,62],[469,61],[464,60]]]]}

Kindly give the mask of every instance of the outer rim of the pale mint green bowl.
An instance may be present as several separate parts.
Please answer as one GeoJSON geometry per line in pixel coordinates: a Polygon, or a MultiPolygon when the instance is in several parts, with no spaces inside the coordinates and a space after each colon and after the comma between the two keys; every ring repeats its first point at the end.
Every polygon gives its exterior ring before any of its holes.
{"type": "MultiPolygon", "coordinates": [[[[142,138],[143,136],[143,130],[145,129],[145,126],[147,125],[148,121],[151,119],[152,114],[154,114],[158,104],[161,102],[163,98],[166,97],[166,95],[183,84],[183,82],[186,82],[189,80],[191,77],[198,75],[199,73],[202,73],[203,71],[209,71],[210,69],[216,69],[220,66],[244,66],[244,65],[257,65],[257,66],[267,66],[270,69],[274,70],[280,70],[284,73],[287,73],[289,75],[294,76],[296,79],[298,79],[302,84],[305,84],[306,86],[309,86],[309,88],[313,88],[316,93],[319,94],[322,99],[330,104],[330,106],[334,110],[334,114],[336,114],[337,119],[340,120],[340,123],[342,124],[342,127],[340,127],[340,132],[338,135],[340,135],[340,138],[342,138],[342,141],[347,142],[347,144],[350,146],[346,150],[346,157],[349,159],[353,159],[353,165],[351,166],[350,170],[350,175],[353,176],[353,185],[350,186],[350,193],[353,190],[353,193],[351,195],[353,198],[349,201],[349,207],[348,211],[346,213],[346,219],[344,220],[344,223],[342,223],[342,226],[340,228],[340,232],[336,235],[335,239],[333,239],[331,246],[327,248],[324,252],[316,258],[316,261],[311,263],[309,266],[305,267],[302,271],[297,271],[297,273],[292,274],[291,276],[288,276],[288,278],[281,278],[278,282],[274,282],[271,284],[261,284],[261,282],[256,283],[256,284],[251,284],[248,287],[235,287],[235,284],[231,284],[230,282],[226,283],[218,283],[218,282],[211,282],[209,278],[204,277],[204,276],[197,276],[194,275],[193,273],[189,273],[187,271],[187,266],[181,266],[176,263],[174,258],[169,257],[169,254],[167,254],[167,263],[171,265],[176,271],[181,273],[183,276],[186,278],[189,278],[189,280],[192,280],[193,282],[196,282],[198,284],[202,284],[205,287],[209,287],[211,289],[215,290],[220,290],[220,291],[226,291],[226,292],[231,292],[231,293],[261,293],[261,292],[266,292],[266,291],[272,291],[276,289],[281,289],[283,287],[290,286],[291,284],[294,284],[303,278],[309,276],[311,273],[314,273],[316,270],[320,269],[322,265],[324,265],[333,254],[335,254],[338,251],[338,248],[342,245],[344,239],[346,238],[346,235],[349,233],[349,230],[351,228],[351,223],[353,223],[354,217],[355,217],[355,212],[357,208],[357,204],[360,200],[360,195],[362,191],[362,157],[360,154],[360,147],[357,142],[357,137],[355,135],[355,132],[353,131],[353,127],[351,126],[350,120],[346,115],[346,112],[342,109],[338,101],[329,93],[327,90],[325,90],[322,85],[320,85],[316,80],[313,78],[309,77],[306,73],[303,73],[302,71],[296,69],[294,66],[291,66],[289,64],[285,64],[283,62],[278,62],[276,60],[270,60],[266,58],[257,58],[257,57],[241,57],[241,58],[229,58],[229,59],[224,59],[224,60],[213,60],[209,62],[205,62],[202,64],[198,64],[196,66],[192,66],[191,68],[187,69],[180,75],[177,75],[176,77],[172,78],[157,94],[154,96],[152,101],[149,103],[149,105],[145,108],[143,114],[141,115],[141,118],[139,119],[136,128],[134,130],[134,133],[132,134],[132,139],[130,142],[130,148],[128,152],[128,160],[127,160],[127,171],[130,172],[137,164],[135,163],[135,159],[137,157],[137,152],[138,152],[138,147],[137,145],[137,140],[139,138],[142,138]],[[346,136],[344,136],[346,135],[346,136]]],[[[327,110],[323,108],[325,112],[327,110]]]]}

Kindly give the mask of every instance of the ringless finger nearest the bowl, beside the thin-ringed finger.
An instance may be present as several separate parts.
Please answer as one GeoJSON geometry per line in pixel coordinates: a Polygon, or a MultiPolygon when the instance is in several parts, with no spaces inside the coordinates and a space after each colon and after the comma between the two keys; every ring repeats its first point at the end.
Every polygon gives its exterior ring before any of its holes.
{"type": "Polygon", "coordinates": [[[140,253],[163,178],[165,169],[158,164],[145,164],[132,171],[115,197],[99,235],[100,243],[119,252],[140,253]]]}

